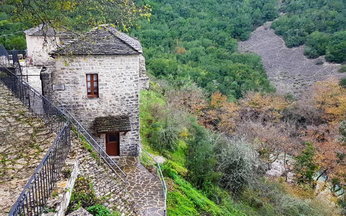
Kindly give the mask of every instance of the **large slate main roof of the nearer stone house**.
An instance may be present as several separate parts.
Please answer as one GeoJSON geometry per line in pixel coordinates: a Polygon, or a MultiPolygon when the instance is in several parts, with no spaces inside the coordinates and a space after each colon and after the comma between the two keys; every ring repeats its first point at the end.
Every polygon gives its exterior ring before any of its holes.
{"type": "Polygon", "coordinates": [[[65,43],[51,55],[115,55],[143,53],[138,39],[106,24],[65,43]]]}

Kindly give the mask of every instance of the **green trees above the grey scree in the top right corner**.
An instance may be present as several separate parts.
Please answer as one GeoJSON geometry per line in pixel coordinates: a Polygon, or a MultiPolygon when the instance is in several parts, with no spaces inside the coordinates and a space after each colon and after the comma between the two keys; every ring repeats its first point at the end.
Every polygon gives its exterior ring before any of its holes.
{"type": "Polygon", "coordinates": [[[272,24],[287,47],[306,44],[309,58],[326,55],[329,62],[346,61],[346,4],[344,0],[286,0],[286,14],[272,24]]]}

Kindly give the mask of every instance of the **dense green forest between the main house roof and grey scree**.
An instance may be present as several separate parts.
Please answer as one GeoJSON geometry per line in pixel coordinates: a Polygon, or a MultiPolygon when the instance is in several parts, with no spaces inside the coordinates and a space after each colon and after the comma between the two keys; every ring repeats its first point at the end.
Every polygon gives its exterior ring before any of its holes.
{"type": "Polygon", "coordinates": [[[238,54],[236,39],[278,16],[275,0],[140,1],[151,21],[132,29],[144,47],[147,73],[174,88],[195,82],[208,92],[237,99],[248,90],[274,91],[261,58],[238,54]],[[234,39],[236,38],[236,39],[234,39]]]}

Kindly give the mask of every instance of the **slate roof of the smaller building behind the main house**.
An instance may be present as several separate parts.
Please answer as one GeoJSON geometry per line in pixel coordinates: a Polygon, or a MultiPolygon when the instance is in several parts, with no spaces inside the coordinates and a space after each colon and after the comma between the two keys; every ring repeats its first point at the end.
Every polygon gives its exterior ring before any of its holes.
{"type": "Polygon", "coordinates": [[[24,31],[27,35],[33,36],[72,36],[75,35],[73,32],[66,31],[66,29],[59,28],[54,29],[49,25],[41,24],[37,27],[30,28],[24,31]]]}

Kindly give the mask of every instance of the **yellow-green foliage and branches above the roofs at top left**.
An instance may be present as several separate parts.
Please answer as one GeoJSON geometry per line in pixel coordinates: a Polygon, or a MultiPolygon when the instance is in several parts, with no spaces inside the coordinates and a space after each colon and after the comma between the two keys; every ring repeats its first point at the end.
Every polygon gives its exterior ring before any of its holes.
{"type": "Polygon", "coordinates": [[[81,33],[109,23],[127,31],[136,26],[138,17],[149,19],[150,11],[150,7],[137,7],[131,0],[2,0],[0,44],[7,49],[24,49],[22,31],[40,24],[81,33]]]}

